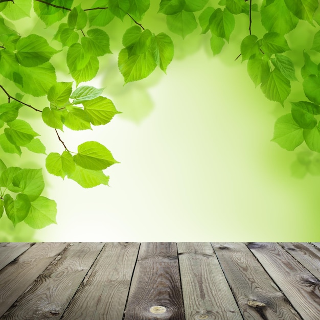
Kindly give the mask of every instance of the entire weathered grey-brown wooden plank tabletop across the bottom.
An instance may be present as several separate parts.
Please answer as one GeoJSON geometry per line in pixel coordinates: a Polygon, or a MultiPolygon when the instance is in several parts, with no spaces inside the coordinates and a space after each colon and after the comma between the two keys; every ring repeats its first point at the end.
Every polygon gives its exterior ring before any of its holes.
{"type": "Polygon", "coordinates": [[[320,319],[320,243],[0,243],[0,319],[320,319]]]}

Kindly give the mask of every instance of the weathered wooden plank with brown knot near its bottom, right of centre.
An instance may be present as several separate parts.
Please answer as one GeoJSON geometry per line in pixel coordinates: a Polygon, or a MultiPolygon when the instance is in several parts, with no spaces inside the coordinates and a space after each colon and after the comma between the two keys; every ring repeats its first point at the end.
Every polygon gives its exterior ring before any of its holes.
{"type": "Polygon", "coordinates": [[[244,319],[301,319],[244,243],[212,243],[244,319]]]}

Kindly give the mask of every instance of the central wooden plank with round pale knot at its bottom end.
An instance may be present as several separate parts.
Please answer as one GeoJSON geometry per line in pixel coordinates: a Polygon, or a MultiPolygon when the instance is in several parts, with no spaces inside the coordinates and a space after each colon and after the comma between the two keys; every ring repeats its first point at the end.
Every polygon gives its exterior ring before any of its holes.
{"type": "Polygon", "coordinates": [[[185,320],[175,243],[142,243],[125,320],[185,320]]]}

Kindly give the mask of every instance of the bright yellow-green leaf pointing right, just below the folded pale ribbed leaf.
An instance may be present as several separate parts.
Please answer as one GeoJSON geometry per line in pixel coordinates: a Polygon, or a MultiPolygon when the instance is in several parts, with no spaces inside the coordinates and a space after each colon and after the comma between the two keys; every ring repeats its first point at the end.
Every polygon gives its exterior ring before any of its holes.
{"type": "Polygon", "coordinates": [[[90,122],[94,126],[107,124],[117,113],[112,101],[105,97],[98,97],[83,103],[85,112],[89,115],[90,122]]]}

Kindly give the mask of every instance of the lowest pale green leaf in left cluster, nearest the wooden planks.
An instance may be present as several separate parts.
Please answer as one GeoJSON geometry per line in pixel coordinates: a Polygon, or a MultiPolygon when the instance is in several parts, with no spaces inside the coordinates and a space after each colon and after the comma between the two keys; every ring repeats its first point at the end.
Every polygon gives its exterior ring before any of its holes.
{"type": "Polygon", "coordinates": [[[49,224],[57,223],[56,215],[56,202],[45,197],[39,197],[31,202],[30,212],[24,221],[34,229],[41,229],[49,224]]]}

